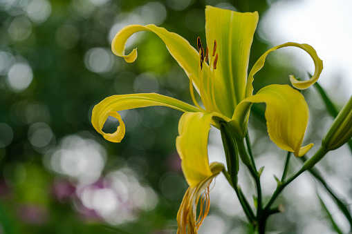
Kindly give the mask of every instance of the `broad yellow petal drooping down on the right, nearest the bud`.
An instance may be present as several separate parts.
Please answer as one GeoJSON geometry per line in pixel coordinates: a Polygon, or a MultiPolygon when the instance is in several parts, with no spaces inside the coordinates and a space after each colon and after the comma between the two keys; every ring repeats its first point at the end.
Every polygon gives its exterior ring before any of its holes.
{"type": "MultiPolygon", "coordinates": [[[[270,85],[262,88],[256,95],[241,101],[237,106],[234,119],[246,123],[253,103],[266,104],[266,124],[272,142],[283,150],[294,152],[301,157],[313,147],[302,146],[308,124],[308,105],[303,95],[288,85],[270,85]]],[[[243,132],[246,126],[243,126],[243,132]]]]}

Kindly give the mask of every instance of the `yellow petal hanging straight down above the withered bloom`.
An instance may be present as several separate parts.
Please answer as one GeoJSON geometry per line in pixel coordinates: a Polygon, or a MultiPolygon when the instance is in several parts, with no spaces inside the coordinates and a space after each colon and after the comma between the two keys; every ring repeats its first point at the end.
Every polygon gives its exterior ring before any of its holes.
{"type": "Polygon", "coordinates": [[[207,157],[207,139],[214,116],[219,117],[216,113],[185,113],[178,122],[176,148],[182,160],[183,174],[191,187],[212,175],[207,157]]]}

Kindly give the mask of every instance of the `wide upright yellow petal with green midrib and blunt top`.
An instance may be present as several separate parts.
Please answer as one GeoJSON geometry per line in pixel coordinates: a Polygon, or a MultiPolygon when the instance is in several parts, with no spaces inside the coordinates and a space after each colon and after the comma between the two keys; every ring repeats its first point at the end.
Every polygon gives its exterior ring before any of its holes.
{"type": "Polygon", "coordinates": [[[239,13],[207,6],[205,34],[210,53],[216,40],[219,55],[215,70],[216,104],[231,117],[245,98],[250,46],[258,23],[257,12],[239,13]]]}

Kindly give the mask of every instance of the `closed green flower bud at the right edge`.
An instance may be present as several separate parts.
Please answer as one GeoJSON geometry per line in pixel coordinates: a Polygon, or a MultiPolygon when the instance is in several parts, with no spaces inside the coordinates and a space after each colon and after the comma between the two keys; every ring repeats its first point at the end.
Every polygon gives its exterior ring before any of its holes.
{"type": "Polygon", "coordinates": [[[352,137],[352,97],[344,105],[322,139],[326,150],[335,150],[352,137]]]}

